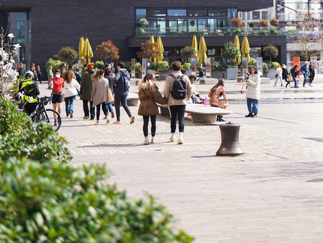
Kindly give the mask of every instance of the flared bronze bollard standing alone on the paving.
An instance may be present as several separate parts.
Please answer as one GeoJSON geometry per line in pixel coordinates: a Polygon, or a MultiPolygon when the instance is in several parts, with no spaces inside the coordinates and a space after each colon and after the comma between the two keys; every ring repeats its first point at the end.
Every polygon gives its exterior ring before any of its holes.
{"type": "Polygon", "coordinates": [[[239,130],[238,123],[220,124],[221,145],[216,151],[217,156],[239,156],[245,153],[239,143],[239,130]]]}

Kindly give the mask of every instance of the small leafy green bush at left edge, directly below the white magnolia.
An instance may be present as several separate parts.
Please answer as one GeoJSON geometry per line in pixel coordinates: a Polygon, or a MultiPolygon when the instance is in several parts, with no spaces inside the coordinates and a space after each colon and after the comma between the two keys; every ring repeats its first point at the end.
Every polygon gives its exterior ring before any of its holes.
{"type": "Polygon", "coordinates": [[[25,112],[18,111],[15,103],[0,97],[0,135],[19,135],[30,125],[31,120],[25,112]]]}

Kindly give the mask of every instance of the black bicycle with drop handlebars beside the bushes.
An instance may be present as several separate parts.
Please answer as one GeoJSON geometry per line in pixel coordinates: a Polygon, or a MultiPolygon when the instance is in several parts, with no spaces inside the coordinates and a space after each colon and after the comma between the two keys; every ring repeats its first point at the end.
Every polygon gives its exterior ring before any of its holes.
{"type": "MultiPolygon", "coordinates": [[[[58,129],[62,125],[62,118],[59,115],[59,113],[53,109],[45,109],[45,105],[50,103],[52,101],[52,97],[44,96],[44,97],[37,97],[37,107],[33,114],[30,115],[30,119],[34,123],[39,123],[41,121],[45,122],[47,125],[51,125],[53,127],[55,126],[55,116],[57,121],[57,127],[55,131],[58,131],[58,129]],[[55,115],[54,115],[55,114],[55,115]]],[[[23,104],[18,104],[18,111],[24,112],[23,104]]]]}

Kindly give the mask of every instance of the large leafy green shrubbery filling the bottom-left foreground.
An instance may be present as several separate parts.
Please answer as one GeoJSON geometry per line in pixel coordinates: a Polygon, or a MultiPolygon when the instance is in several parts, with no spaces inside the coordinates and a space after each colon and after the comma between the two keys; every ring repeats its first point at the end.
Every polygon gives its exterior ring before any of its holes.
{"type": "Polygon", "coordinates": [[[150,197],[102,186],[104,166],[72,168],[66,140],[44,123],[0,136],[1,242],[182,242],[173,218],[150,197]]]}

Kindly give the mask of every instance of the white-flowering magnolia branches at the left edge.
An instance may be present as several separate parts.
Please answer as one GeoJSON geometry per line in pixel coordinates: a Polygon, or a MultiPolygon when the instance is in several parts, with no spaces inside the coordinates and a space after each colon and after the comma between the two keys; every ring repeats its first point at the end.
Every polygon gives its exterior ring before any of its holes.
{"type": "MultiPolygon", "coordinates": [[[[17,82],[18,72],[15,65],[15,56],[19,50],[20,43],[14,44],[13,49],[8,43],[5,43],[5,35],[7,32],[1,28],[0,34],[0,97],[5,97],[7,99],[11,99],[10,96],[10,88],[13,83],[17,82]],[[7,50],[7,51],[6,51],[7,50]]],[[[14,38],[13,34],[8,34],[10,39],[14,38]]]]}

